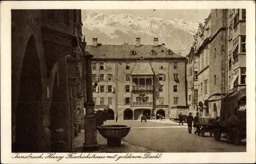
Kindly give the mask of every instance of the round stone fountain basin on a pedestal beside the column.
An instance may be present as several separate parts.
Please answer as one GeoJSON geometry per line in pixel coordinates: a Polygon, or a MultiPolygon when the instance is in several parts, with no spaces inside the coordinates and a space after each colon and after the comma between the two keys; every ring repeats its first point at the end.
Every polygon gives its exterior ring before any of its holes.
{"type": "Polygon", "coordinates": [[[108,146],[121,146],[121,139],[131,130],[125,125],[102,125],[97,127],[99,133],[107,139],[108,146]]]}

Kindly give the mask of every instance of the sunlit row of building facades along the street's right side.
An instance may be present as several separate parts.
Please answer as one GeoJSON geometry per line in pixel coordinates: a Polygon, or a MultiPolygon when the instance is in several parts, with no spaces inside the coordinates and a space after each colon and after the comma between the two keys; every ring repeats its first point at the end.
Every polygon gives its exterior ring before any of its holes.
{"type": "Polygon", "coordinates": [[[192,78],[194,99],[191,104],[196,105],[198,99],[197,111],[201,116],[219,116],[221,99],[246,86],[245,21],[245,9],[211,9],[204,25],[199,25],[188,56],[194,59],[190,65],[197,75],[192,78]]]}

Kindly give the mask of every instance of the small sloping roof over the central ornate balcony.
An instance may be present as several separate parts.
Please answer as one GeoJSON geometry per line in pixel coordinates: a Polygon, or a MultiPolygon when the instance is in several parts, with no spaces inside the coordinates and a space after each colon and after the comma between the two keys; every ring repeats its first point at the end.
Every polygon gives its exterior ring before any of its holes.
{"type": "Polygon", "coordinates": [[[132,75],[154,75],[150,63],[137,62],[133,68],[132,75]]]}

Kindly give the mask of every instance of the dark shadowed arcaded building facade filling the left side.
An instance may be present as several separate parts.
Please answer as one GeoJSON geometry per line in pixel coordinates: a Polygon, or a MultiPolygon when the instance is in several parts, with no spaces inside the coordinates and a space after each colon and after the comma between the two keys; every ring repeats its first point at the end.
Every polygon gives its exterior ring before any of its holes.
{"type": "Polygon", "coordinates": [[[71,151],[80,10],[12,10],[12,152],[71,151]],[[63,103],[65,102],[65,103],[63,103]]]}

